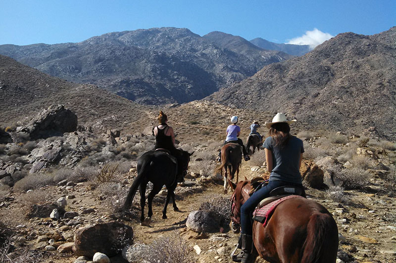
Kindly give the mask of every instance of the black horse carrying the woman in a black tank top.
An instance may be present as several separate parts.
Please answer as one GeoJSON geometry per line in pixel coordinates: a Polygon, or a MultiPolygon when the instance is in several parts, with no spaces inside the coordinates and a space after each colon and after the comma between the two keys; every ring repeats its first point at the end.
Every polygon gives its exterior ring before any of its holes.
{"type": "Polygon", "coordinates": [[[175,202],[175,188],[178,182],[182,182],[184,176],[187,174],[190,156],[194,153],[189,153],[185,150],[180,150],[183,156],[183,162],[177,164],[168,152],[162,150],[150,150],[145,152],[138,160],[138,176],[132,183],[129,189],[128,196],[124,203],[124,211],[128,212],[131,207],[132,200],[135,197],[136,191],[140,189],[140,205],[142,209],[142,216],[140,218],[142,225],[149,225],[152,216],[151,203],[154,196],[161,190],[162,186],[166,186],[168,194],[164,209],[162,210],[162,218],[166,219],[166,207],[169,199],[172,197],[173,210],[178,211],[175,202]],[[177,175],[177,166],[181,165],[179,176],[177,175]],[[179,177],[179,178],[178,178],[179,177]],[[146,203],[146,187],[148,182],[153,184],[153,188],[148,194],[148,217],[145,219],[145,203],[146,203]]]}

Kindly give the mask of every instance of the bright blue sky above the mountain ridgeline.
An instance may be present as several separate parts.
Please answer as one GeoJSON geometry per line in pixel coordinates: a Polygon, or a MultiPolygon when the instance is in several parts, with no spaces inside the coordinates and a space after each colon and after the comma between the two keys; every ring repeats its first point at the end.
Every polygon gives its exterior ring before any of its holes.
{"type": "Polygon", "coordinates": [[[0,0],[0,44],[79,42],[153,27],[307,43],[393,26],[396,0],[0,0]]]}

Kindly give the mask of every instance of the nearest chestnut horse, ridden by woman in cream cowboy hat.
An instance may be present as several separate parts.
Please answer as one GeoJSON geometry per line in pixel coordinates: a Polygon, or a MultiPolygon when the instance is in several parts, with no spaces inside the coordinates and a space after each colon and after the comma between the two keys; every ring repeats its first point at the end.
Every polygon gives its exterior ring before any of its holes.
{"type": "MultiPolygon", "coordinates": [[[[249,198],[251,186],[249,181],[231,185],[236,187],[231,197],[231,222],[235,228],[239,227],[240,209],[249,198]]],[[[251,262],[260,256],[270,263],[335,263],[338,228],[326,208],[297,197],[280,203],[265,227],[253,222],[253,244],[251,262]]]]}

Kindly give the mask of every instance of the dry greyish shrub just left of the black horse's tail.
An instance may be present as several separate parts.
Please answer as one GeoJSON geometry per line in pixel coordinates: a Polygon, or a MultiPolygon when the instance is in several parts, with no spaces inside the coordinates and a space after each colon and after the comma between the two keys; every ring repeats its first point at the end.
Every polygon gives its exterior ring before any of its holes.
{"type": "Polygon", "coordinates": [[[125,199],[128,195],[128,188],[122,188],[121,184],[103,183],[95,189],[100,200],[103,200],[103,207],[111,214],[119,213],[123,210],[125,199]]]}

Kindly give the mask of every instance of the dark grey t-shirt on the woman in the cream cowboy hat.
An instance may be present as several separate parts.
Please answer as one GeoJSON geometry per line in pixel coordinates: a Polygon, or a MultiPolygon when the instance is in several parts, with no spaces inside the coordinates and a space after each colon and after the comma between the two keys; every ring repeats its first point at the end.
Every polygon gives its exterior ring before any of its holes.
{"type": "Polygon", "coordinates": [[[272,152],[273,168],[269,178],[270,181],[302,183],[298,164],[300,155],[304,152],[304,147],[300,139],[290,136],[287,145],[280,149],[274,146],[272,137],[268,137],[264,141],[264,148],[272,152]]]}

